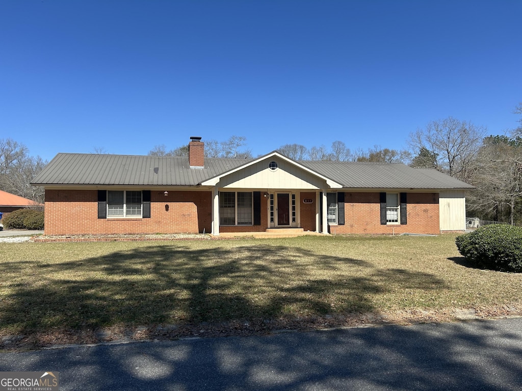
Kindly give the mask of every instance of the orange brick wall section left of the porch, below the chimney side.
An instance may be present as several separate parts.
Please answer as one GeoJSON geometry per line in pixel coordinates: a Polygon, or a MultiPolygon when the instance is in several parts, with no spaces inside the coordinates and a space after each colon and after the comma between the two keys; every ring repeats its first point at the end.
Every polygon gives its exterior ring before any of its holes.
{"type": "Polygon", "coordinates": [[[97,190],[45,190],[45,234],[210,232],[210,191],[151,190],[150,218],[98,218],[97,190]]]}

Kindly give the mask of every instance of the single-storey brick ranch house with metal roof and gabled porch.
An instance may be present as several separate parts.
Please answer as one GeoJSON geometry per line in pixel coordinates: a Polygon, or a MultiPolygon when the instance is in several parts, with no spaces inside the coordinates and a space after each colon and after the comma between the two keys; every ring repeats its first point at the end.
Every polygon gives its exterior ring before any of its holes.
{"type": "Polygon", "coordinates": [[[472,186],[404,164],[59,153],[34,178],[45,234],[439,234],[466,229],[472,186]]]}

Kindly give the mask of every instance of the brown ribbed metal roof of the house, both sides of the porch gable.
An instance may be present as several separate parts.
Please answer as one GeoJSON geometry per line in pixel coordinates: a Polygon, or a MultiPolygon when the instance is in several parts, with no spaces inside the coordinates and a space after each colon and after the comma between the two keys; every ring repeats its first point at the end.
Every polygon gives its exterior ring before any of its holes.
{"type": "MultiPolygon", "coordinates": [[[[251,160],[205,158],[190,168],[187,157],[59,153],[33,179],[33,185],[197,186],[251,160]]],[[[471,185],[431,169],[404,164],[299,162],[344,188],[470,189],[471,185]]]]}

